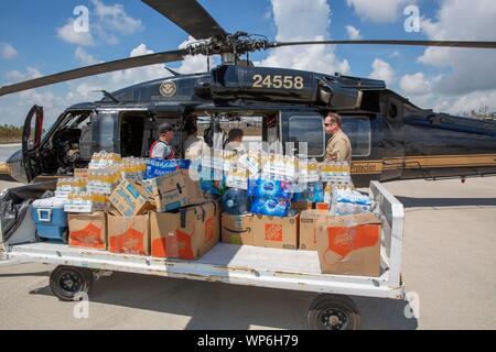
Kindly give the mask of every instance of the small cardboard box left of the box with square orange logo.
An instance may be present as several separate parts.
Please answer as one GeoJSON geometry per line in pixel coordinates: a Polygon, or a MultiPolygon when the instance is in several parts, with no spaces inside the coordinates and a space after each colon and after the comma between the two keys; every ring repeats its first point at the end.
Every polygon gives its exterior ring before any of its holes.
{"type": "Polygon", "coordinates": [[[254,215],[220,216],[220,234],[225,243],[254,245],[254,215]]]}

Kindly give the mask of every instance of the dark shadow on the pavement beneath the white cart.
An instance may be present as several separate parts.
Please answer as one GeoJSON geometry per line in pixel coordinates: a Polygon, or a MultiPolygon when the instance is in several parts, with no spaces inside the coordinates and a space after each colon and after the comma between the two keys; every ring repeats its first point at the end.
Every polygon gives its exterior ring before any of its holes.
{"type": "MultiPolygon", "coordinates": [[[[30,294],[52,296],[47,286],[30,294]]],[[[316,294],[114,273],[96,282],[89,297],[99,304],[191,317],[185,329],[304,330],[308,309],[316,294]]],[[[362,311],[363,329],[416,329],[418,326],[417,320],[405,317],[406,301],[353,299],[362,311]]]]}

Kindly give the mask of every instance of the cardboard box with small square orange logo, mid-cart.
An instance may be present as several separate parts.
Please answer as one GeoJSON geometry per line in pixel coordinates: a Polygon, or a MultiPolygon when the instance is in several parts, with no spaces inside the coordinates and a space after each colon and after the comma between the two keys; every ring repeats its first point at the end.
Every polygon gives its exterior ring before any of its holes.
{"type": "Polygon", "coordinates": [[[298,216],[254,216],[255,245],[274,249],[298,249],[298,216]]]}

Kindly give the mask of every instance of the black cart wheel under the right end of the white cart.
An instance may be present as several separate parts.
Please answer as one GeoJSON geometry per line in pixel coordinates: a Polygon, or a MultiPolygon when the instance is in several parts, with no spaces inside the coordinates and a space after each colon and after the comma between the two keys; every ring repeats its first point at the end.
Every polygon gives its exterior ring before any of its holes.
{"type": "Polygon", "coordinates": [[[309,309],[309,324],[313,330],[356,330],[360,315],[347,296],[320,295],[309,309]]]}

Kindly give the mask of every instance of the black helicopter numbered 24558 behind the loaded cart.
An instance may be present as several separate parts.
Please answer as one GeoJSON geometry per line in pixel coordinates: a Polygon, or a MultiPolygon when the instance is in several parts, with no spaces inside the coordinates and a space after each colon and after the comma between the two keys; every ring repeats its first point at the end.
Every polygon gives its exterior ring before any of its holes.
{"type": "MultiPolygon", "coordinates": [[[[158,138],[157,125],[206,120],[205,139],[223,121],[258,118],[260,135],[285,153],[308,143],[309,157],[322,160],[326,135],[323,116],[337,111],[353,144],[352,173],[357,186],[412,178],[496,174],[496,121],[434,113],[416,107],[381,80],[285,68],[255,67],[249,53],[292,45],[377,44],[496,48],[496,42],[313,41],[270,42],[242,32],[227,33],[195,0],[142,0],[197,40],[177,51],[78,68],[0,88],[0,96],[93,75],[182,61],[187,55],[220,55],[222,64],[204,74],[179,75],[104,92],[96,102],[69,107],[42,136],[43,108],[29,112],[22,151],[7,161],[20,182],[71,175],[93,153],[143,156],[158,138]],[[245,59],[241,59],[246,55],[245,59]],[[288,144],[289,143],[289,144],[288,144]]],[[[181,150],[183,133],[177,133],[181,150]]]]}

